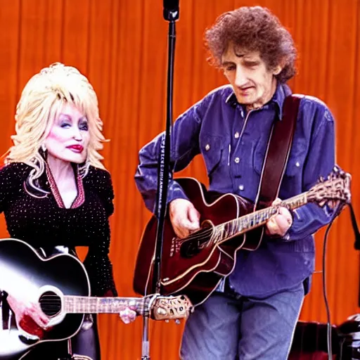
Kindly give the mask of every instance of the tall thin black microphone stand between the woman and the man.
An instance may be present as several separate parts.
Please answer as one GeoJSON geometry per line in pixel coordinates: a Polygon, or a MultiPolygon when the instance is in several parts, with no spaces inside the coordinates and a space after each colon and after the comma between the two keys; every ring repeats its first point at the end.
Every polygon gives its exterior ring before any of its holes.
{"type": "MultiPolygon", "coordinates": [[[[164,1],[164,4],[167,1],[164,1]]],[[[178,1],[177,1],[178,2],[178,1]]],[[[174,78],[174,51],[175,51],[175,21],[179,18],[179,5],[174,5],[176,1],[172,2],[172,8],[167,8],[164,5],[164,18],[169,21],[168,32],[168,58],[167,58],[167,117],[166,130],[162,136],[160,145],[160,159],[158,167],[158,196],[156,214],[158,217],[158,227],[156,230],[156,244],[155,244],[155,261],[153,265],[153,279],[151,282],[152,293],[161,293],[161,257],[162,257],[162,242],[164,232],[164,221],[167,210],[167,186],[169,184],[169,162],[170,162],[170,134],[172,129],[172,96],[173,96],[173,78],[174,78]]],[[[142,340],[142,354],[141,360],[150,360],[149,352],[149,316],[143,316],[143,340],[142,340]]]]}

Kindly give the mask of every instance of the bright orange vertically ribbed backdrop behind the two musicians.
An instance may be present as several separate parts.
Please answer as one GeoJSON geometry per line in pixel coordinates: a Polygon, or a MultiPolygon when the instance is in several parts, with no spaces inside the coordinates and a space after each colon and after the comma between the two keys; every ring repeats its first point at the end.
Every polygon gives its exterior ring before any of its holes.
{"type": "MultiPolygon", "coordinates": [[[[299,74],[293,91],[325,101],[336,119],[337,160],[352,173],[352,196],[360,219],[360,2],[358,0],[181,0],[176,25],[174,116],[225,83],[206,63],[203,31],[238,6],[271,9],[293,34],[299,74]]],[[[132,274],[143,227],[150,214],[134,184],[139,148],[165,129],[167,23],[162,1],[0,0],[0,152],[11,145],[15,105],[27,80],[60,61],[89,77],[98,94],[105,136],[105,165],[113,176],[115,214],[110,257],[120,295],[134,296],[132,274]]],[[[200,158],[181,175],[206,183],[200,158]]],[[[326,321],[321,253],[316,236],[316,274],[301,318],[326,321]]],[[[4,219],[0,236],[7,237],[4,219]]],[[[328,238],[327,290],[331,320],[359,311],[359,254],[345,210],[328,238]]],[[[1,274],[0,274],[1,276],[1,274]]],[[[153,359],[178,359],[183,326],[150,323],[153,359]]],[[[115,315],[100,317],[103,359],[140,359],[141,319],[125,326],[115,315]]]]}

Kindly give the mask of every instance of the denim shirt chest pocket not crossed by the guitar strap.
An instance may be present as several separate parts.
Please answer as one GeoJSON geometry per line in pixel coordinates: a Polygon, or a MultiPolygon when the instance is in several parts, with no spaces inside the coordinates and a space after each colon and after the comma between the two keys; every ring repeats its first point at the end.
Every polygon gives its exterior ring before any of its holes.
{"type": "Polygon", "coordinates": [[[207,175],[211,176],[224,158],[225,139],[222,136],[203,134],[200,137],[200,150],[203,154],[207,175]]]}

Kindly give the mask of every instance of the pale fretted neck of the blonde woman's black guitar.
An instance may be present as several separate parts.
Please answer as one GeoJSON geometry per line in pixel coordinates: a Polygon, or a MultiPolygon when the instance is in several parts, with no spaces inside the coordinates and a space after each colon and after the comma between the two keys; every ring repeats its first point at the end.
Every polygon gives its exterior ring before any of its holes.
{"type": "Polygon", "coordinates": [[[119,314],[129,307],[136,314],[148,311],[149,300],[139,297],[64,296],[63,310],[68,314],[119,314]]]}

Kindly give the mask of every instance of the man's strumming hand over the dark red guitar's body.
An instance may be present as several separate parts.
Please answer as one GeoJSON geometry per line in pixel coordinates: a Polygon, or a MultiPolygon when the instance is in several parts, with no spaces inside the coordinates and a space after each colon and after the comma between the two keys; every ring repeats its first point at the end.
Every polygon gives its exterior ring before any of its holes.
{"type": "Polygon", "coordinates": [[[200,229],[200,214],[194,205],[186,199],[175,199],[169,205],[170,221],[179,238],[186,238],[200,229]]]}

